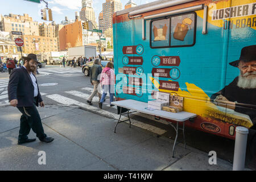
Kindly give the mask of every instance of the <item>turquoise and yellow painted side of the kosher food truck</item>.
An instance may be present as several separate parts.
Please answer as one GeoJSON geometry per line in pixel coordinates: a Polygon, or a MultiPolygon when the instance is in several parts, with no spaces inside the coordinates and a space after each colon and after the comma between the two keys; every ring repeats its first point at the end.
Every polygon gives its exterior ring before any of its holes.
{"type": "Polygon", "coordinates": [[[256,2],[193,1],[139,14],[113,16],[115,96],[143,102],[156,92],[184,97],[183,110],[196,113],[186,122],[234,139],[236,126],[256,127],[256,2]],[[204,9],[144,20],[163,12],[204,9]],[[146,39],[142,39],[142,31],[146,39]]]}

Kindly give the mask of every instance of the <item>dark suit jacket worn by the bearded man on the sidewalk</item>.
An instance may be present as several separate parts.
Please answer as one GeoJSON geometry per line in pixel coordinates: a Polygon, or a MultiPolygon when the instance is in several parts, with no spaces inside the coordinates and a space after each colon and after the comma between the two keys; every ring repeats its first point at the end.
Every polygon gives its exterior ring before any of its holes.
{"type": "MultiPolygon", "coordinates": [[[[38,85],[38,81],[36,80],[38,85]]],[[[27,69],[24,67],[16,68],[11,72],[10,80],[8,84],[8,96],[9,101],[18,100],[17,107],[30,107],[34,103],[34,86],[27,69]]],[[[36,106],[39,106],[39,102],[42,102],[42,97],[39,92],[36,97],[36,106]]]]}

